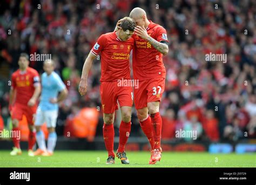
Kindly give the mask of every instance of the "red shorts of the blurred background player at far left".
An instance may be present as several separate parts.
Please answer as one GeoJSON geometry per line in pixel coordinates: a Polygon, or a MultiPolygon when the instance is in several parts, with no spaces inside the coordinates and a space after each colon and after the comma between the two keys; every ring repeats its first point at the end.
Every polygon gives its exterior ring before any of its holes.
{"type": "Polygon", "coordinates": [[[37,104],[29,107],[28,105],[14,104],[11,111],[11,119],[22,120],[22,115],[24,114],[28,120],[29,125],[34,124],[33,117],[36,115],[37,104]]]}

